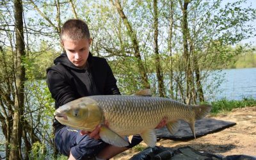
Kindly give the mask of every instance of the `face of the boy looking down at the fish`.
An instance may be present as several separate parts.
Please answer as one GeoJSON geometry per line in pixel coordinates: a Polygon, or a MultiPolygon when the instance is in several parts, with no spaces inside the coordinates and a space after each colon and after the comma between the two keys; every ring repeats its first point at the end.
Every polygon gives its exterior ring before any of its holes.
{"type": "Polygon", "coordinates": [[[89,49],[92,39],[63,40],[61,43],[70,60],[76,67],[83,68],[89,56],[89,49]]]}

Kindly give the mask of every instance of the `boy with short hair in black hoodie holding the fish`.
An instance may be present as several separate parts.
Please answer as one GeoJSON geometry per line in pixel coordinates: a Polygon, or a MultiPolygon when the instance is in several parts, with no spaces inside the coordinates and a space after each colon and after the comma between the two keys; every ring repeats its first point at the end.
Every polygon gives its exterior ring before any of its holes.
{"type": "MultiPolygon", "coordinates": [[[[55,108],[89,95],[120,95],[113,72],[104,58],[92,56],[88,26],[83,20],[70,19],[61,28],[61,45],[65,52],[47,69],[47,84],[55,99],[55,108]]],[[[165,122],[159,126],[163,127],[165,122]]],[[[99,139],[99,129],[76,132],[55,120],[55,144],[68,159],[109,159],[141,142],[133,136],[127,147],[115,147],[99,139]]]]}

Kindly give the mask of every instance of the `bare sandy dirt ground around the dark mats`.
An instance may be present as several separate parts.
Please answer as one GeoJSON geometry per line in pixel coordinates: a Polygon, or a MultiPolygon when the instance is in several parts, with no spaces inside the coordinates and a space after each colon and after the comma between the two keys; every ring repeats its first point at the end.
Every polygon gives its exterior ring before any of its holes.
{"type": "MultiPolygon", "coordinates": [[[[196,138],[196,140],[160,140],[157,145],[173,149],[190,146],[198,151],[221,154],[223,156],[237,154],[256,156],[256,106],[233,109],[227,114],[207,117],[236,122],[237,124],[222,131],[196,138]]],[[[146,146],[143,142],[141,145],[146,146]]],[[[129,159],[136,153],[138,151],[130,149],[113,157],[113,159],[129,159]]]]}

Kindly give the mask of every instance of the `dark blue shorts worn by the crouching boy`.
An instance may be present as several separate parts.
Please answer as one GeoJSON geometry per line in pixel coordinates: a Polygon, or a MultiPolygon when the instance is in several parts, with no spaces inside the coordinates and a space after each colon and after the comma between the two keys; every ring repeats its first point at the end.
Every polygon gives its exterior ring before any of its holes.
{"type": "MultiPolygon", "coordinates": [[[[109,144],[102,140],[95,140],[88,135],[81,135],[80,131],[72,131],[70,127],[63,127],[55,133],[55,145],[59,152],[69,156],[70,152],[76,159],[94,157],[109,144]]],[[[127,148],[132,148],[142,141],[140,136],[133,136],[127,148]]]]}

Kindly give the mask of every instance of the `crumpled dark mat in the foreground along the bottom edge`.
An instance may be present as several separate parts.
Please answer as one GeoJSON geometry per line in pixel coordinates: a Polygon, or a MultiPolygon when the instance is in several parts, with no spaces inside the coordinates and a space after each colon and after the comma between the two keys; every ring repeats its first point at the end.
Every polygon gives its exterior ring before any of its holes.
{"type": "Polygon", "coordinates": [[[246,155],[221,156],[207,152],[198,152],[191,147],[180,147],[177,150],[166,147],[145,148],[138,154],[131,157],[130,160],[194,160],[194,159],[223,159],[223,160],[256,160],[256,157],[246,155]]]}

